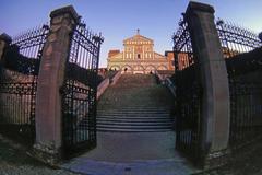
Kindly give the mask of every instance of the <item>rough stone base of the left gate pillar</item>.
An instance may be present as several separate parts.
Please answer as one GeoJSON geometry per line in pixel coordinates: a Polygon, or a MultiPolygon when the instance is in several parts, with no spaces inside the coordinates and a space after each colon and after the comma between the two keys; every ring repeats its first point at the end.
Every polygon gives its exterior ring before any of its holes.
{"type": "Polygon", "coordinates": [[[52,145],[34,144],[33,156],[40,162],[55,166],[61,161],[61,149],[52,145]]]}

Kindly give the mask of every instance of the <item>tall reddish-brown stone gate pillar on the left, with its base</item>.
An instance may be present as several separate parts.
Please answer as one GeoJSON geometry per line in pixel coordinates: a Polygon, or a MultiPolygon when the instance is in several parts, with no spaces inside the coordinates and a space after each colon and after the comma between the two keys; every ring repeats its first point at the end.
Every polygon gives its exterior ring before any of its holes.
{"type": "Polygon", "coordinates": [[[56,164],[62,145],[59,90],[63,84],[71,36],[79,15],[70,5],[52,11],[50,19],[50,32],[44,46],[37,82],[34,154],[40,161],[56,164]]]}

